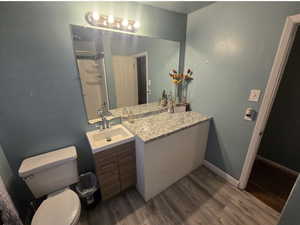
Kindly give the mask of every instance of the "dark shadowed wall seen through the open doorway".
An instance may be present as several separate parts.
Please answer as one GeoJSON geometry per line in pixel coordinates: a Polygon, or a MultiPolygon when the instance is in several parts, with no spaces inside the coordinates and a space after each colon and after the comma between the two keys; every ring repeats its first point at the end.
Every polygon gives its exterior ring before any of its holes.
{"type": "Polygon", "coordinates": [[[259,154],[300,172],[300,30],[298,29],[287,65],[262,138],[259,154]]]}

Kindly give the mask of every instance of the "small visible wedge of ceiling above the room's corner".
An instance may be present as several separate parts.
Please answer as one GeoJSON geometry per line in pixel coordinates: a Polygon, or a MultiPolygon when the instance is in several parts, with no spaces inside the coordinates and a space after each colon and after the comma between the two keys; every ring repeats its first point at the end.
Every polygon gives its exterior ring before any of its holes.
{"type": "Polygon", "coordinates": [[[214,2],[211,1],[202,1],[202,2],[191,2],[191,1],[176,1],[176,2],[164,2],[164,1],[156,1],[156,2],[140,2],[142,4],[151,5],[153,7],[166,9],[173,12],[188,14],[194,12],[200,8],[208,6],[214,2]]]}

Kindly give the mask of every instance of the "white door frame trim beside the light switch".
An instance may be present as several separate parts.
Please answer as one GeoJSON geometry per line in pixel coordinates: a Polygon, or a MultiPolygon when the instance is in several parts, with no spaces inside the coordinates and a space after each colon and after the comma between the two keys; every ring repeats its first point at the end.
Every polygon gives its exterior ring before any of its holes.
{"type": "Polygon", "coordinates": [[[252,167],[260,146],[260,141],[263,136],[299,25],[300,14],[287,17],[243,165],[239,180],[239,188],[241,189],[245,189],[247,187],[252,167]]]}

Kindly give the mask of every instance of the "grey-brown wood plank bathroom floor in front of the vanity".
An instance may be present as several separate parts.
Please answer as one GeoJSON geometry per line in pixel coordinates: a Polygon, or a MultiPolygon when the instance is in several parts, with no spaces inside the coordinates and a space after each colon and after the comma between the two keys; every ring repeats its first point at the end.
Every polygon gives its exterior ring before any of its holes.
{"type": "Polygon", "coordinates": [[[145,203],[132,189],[83,210],[81,225],[275,225],[279,213],[205,167],[145,203]]]}

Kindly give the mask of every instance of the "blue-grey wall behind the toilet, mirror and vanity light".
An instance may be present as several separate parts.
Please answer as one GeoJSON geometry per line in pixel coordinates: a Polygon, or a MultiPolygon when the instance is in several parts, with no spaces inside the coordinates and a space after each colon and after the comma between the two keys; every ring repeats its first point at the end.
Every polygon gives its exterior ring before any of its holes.
{"type": "Polygon", "coordinates": [[[24,158],[68,145],[76,145],[81,171],[90,170],[70,24],[87,25],[85,13],[97,9],[138,19],[141,35],[184,41],[186,16],[133,2],[0,4],[0,142],[14,174],[24,158]]]}

